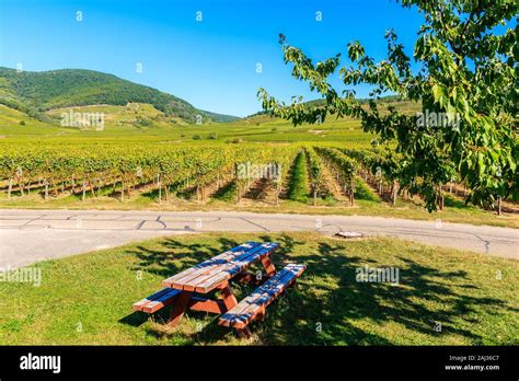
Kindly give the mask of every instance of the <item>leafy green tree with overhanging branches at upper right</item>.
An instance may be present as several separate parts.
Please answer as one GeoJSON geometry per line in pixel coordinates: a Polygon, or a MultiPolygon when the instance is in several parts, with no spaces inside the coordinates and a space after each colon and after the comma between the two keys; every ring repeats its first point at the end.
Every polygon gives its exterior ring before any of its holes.
{"type": "Polygon", "coordinates": [[[258,97],[264,109],[293,125],[320,123],[327,115],[359,117],[366,131],[378,134],[379,145],[395,146],[400,155],[399,181],[412,194],[420,194],[429,211],[436,210],[439,187],[455,173],[472,193],[466,201],[492,204],[517,194],[516,163],[518,86],[518,27],[512,19],[519,5],[495,0],[397,0],[417,7],[425,18],[418,31],[413,59],[392,30],[385,34],[387,59],[377,62],[359,42],[347,47],[349,66],[339,68],[341,54],[314,64],[303,51],[279,43],[292,76],[307,81],[324,104],[277,101],[264,89],[258,97]],[[504,32],[503,32],[504,30],[504,32]],[[348,86],[372,86],[369,104],[354,90],[341,94],[328,83],[338,74],[348,86]],[[419,115],[394,107],[381,113],[374,99],[396,93],[422,103],[423,114],[442,113],[446,125],[420,124],[419,115]]]}

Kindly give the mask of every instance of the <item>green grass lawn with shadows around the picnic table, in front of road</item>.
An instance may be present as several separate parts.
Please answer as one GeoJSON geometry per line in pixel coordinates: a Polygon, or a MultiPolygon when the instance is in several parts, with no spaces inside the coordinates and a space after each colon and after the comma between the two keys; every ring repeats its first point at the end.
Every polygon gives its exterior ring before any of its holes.
{"type": "MultiPolygon", "coordinates": [[[[0,288],[0,345],[511,345],[519,344],[518,262],[394,239],[316,233],[189,234],[41,264],[43,281],[0,288]],[[175,328],[132,313],[162,279],[245,240],[281,243],[276,264],[307,272],[240,339],[216,315],[175,328]],[[357,282],[356,268],[396,267],[400,285],[357,282]],[[441,324],[441,332],[435,331],[441,324]],[[322,330],[318,330],[322,327],[322,330]]],[[[235,288],[240,297],[249,292],[235,288]]],[[[168,311],[165,311],[168,312],[168,311]]]]}

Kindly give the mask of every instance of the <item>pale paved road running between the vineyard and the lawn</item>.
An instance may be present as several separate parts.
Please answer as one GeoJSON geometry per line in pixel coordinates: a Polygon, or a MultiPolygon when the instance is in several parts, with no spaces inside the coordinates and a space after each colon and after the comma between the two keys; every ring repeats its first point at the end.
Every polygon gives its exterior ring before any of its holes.
{"type": "Polygon", "coordinates": [[[519,259],[519,230],[361,216],[0,210],[0,268],[193,232],[356,231],[519,259]]]}

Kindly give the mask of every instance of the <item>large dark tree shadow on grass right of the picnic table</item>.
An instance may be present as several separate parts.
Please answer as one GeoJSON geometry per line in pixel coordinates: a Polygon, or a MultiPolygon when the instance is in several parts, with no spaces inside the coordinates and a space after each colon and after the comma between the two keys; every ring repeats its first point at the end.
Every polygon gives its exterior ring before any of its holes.
{"type": "Polygon", "coordinates": [[[461,335],[474,344],[481,344],[482,337],[459,327],[458,321],[471,322],[466,316],[482,305],[495,309],[506,305],[503,300],[463,293],[464,289],[474,287],[466,284],[470,279],[464,272],[441,272],[403,257],[400,259],[404,265],[399,266],[400,286],[358,282],[358,267],[369,262],[371,267],[391,264],[373,264],[373,261],[347,256],[345,252],[346,244],[320,243],[319,253],[297,256],[298,263],[307,264],[307,274],[299,281],[298,292],[288,300],[286,313],[281,311],[276,324],[265,330],[267,342],[391,344],[356,324],[369,320],[380,325],[394,322],[425,335],[461,335]],[[326,279],[332,279],[330,285],[326,285],[326,279]],[[455,280],[455,285],[448,285],[446,279],[455,280]],[[441,333],[435,331],[438,323],[441,324],[441,333]]]}

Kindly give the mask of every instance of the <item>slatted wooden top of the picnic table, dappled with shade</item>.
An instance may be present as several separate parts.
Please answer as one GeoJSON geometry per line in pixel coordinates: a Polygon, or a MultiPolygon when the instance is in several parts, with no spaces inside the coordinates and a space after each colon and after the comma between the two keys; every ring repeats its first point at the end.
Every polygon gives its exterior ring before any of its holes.
{"type": "Polygon", "coordinates": [[[207,293],[250,265],[270,255],[277,247],[279,243],[276,242],[245,242],[165,279],[162,285],[207,293]]]}

